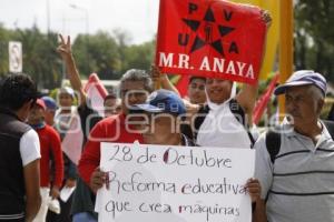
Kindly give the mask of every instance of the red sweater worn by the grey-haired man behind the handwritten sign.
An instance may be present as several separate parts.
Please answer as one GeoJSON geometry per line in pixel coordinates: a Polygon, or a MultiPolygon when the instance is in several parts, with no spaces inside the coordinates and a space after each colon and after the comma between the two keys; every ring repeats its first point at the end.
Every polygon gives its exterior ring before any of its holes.
{"type": "Polygon", "coordinates": [[[139,133],[129,132],[124,113],[106,118],[98,122],[89,133],[88,141],[79,161],[78,170],[82,180],[89,184],[90,176],[100,163],[100,142],[143,143],[139,133]]]}

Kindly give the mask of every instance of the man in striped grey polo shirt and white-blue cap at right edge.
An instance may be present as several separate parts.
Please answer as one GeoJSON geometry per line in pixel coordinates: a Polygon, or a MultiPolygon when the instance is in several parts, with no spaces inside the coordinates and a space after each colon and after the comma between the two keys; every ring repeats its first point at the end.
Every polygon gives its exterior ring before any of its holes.
{"type": "Polygon", "coordinates": [[[326,80],[297,71],[274,93],[285,95],[286,120],[276,131],[281,147],[274,158],[266,134],[255,144],[255,176],[262,185],[256,215],[271,222],[334,221],[334,142],[320,120],[326,80]]]}

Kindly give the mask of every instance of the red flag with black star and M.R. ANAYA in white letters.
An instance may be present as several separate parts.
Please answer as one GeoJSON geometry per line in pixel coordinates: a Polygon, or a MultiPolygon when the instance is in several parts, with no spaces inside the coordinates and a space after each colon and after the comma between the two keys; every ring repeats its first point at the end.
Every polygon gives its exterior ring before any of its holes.
{"type": "Polygon", "coordinates": [[[160,0],[156,64],[165,73],[255,83],[265,33],[256,7],[223,0],[160,0]]]}

